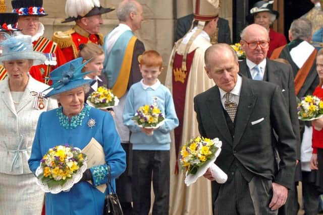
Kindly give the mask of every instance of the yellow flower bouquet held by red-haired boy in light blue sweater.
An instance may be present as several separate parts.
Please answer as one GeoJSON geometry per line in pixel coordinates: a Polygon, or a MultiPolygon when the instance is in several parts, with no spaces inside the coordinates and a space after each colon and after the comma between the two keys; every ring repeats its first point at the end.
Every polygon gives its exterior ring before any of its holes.
{"type": "Polygon", "coordinates": [[[164,123],[164,116],[154,105],[144,105],[138,108],[132,119],[143,128],[158,128],[164,123]]]}

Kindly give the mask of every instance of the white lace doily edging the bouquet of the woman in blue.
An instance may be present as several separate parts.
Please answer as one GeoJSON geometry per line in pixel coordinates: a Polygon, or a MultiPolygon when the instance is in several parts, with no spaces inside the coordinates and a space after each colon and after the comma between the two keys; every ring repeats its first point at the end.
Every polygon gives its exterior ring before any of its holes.
{"type": "MultiPolygon", "coordinates": [[[[78,148],[76,148],[76,149],[78,149],[78,148]]],[[[40,186],[40,189],[46,193],[50,192],[53,194],[57,194],[62,191],[67,192],[73,187],[74,184],[76,184],[77,182],[79,182],[81,180],[83,173],[85,172],[86,169],[87,169],[86,162],[83,161],[83,166],[80,167],[76,173],[73,173],[72,178],[68,179],[63,186],[58,185],[58,186],[49,188],[46,183],[42,182],[41,179],[38,179],[38,178],[37,178],[36,183],[40,186]]],[[[42,173],[43,173],[43,169],[41,166],[39,166],[36,169],[35,175],[38,176],[39,174],[42,174],[42,173]]]]}

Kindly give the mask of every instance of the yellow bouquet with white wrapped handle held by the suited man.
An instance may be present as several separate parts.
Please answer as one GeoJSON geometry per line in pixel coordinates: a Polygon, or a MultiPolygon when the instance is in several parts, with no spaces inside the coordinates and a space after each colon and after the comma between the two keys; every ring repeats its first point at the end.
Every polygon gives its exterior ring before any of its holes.
{"type": "Polygon", "coordinates": [[[198,177],[202,176],[208,168],[218,183],[227,181],[228,176],[216,164],[221,152],[222,141],[219,138],[209,139],[197,136],[190,139],[180,152],[180,165],[186,171],[185,184],[189,186],[198,177]]]}

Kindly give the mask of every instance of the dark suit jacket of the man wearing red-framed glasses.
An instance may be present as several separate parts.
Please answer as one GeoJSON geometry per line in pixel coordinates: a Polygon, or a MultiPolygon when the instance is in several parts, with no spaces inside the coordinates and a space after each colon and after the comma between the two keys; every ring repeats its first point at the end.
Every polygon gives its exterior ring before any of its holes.
{"type": "MultiPolygon", "coordinates": [[[[239,62],[239,71],[240,74],[252,79],[245,59],[239,62]]],[[[296,156],[297,159],[300,160],[300,132],[292,67],[288,64],[266,58],[264,77],[266,77],[265,81],[278,85],[282,90],[286,107],[293,125],[293,131],[297,140],[296,156]]]]}

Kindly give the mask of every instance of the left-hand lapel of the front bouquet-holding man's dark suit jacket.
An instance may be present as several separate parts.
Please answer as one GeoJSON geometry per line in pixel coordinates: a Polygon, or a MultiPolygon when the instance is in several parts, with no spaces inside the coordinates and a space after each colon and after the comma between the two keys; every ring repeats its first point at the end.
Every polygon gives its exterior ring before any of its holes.
{"type": "Polygon", "coordinates": [[[209,108],[209,113],[212,117],[212,121],[217,122],[214,123],[214,125],[216,125],[222,136],[224,136],[224,138],[232,145],[232,137],[223,113],[219,88],[216,86],[213,89],[214,90],[211,93],[212,96],[210,96],[207,100],[209,107],[213,107],[209,108]],[[214,109],[219,111],[214,111],[214,109]]]}

